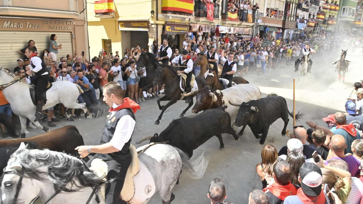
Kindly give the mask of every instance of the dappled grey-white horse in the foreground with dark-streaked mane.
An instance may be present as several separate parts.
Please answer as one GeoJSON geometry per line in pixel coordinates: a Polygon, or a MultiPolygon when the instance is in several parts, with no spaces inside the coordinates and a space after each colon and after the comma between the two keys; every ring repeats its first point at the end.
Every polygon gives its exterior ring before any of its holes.
{"type": "MultiPolygon", "coordinates": [[[[147,168],[150,176],[135,181],[135,195],[130,203],[145,204],[159,192],[163,204],[170,204],[174,199],[172,193],[180,171],[193,179],[201,178],[208,165],[208,160],[201,155],[195,161],[167,144],[155,144],[139,155],[140,171],[147,168]],[[142,167],[143,166],[143,167],[142,167]],[[145,180],[152,180],[153,184],[145,180]],[[140,184],[142,183],[142,184],[140,184]],[[140,185],[146,187],[141,187],[140,185]],[[138,187],[138,188],[137,188],[138,187]],[[140,198],[141,192],[144,199],[140,198]],[[136,201],[134,200],[136,199],[136,201]]],[[[101,190],[105,181],[102,177],[86,171],[81,160],[61,152],[50,150],[29,150],[22,143],[8,161],[1,181],[1,203],[30,203],[36,197],[42,203],[64,204],[82,203],[104,204],[101,190]]]]}

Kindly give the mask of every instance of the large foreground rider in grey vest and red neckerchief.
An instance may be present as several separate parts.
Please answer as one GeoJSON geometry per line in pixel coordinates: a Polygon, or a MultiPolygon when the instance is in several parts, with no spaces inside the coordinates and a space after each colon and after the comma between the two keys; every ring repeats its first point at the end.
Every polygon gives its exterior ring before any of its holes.
{"type": "Polygon", "coordinates": [[[108,166],[107,181],[112,180],[106,184],[106,204],[126,204],[120,199],[120,193],[131,163],[129,147],[136,123],[134,113],[140,106],[130,98],[123,98],[123,90],[117,82],[103,86],[103,101],[110,107],[110,114],[107,115],[101,144],[78,146],[75,150],[78,150],[80,158],[97,153],[87,166],[96,158],[105,160],[108,166]]]}

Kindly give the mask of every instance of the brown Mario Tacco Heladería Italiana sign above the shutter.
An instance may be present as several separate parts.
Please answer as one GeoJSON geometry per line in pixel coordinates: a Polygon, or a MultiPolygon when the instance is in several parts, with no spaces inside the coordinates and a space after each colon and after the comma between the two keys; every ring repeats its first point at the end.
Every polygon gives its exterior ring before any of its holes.
{"type": "Polygon", "coordinates": [[[0,18],[0,30],[12,31],[68,31],[72,32],[73,21],[0,18]]]}

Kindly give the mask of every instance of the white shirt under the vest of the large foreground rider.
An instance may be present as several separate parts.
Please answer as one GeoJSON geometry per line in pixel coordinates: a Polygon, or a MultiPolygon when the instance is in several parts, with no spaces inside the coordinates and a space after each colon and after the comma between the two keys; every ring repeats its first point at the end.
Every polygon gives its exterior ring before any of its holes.
{"type": "MultiPolygon", "coordinates": [[[[115,103],[112,105],[113,108],[118,107],[115,103]]],[[[112,111],[109,118],[112,118],[117,111],[112,111]]],[[[110,144],[118,150],[122,150],[126,142],[129,142],[132,132],[134,132],[136,121],[131,115],[122,116],[117,122],[114,135],[110,141],[110,144]]]]}

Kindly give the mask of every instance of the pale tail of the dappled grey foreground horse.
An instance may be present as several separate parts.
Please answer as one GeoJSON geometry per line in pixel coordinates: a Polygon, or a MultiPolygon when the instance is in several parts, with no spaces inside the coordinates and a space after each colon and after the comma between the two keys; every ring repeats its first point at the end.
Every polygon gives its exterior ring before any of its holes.
{"type": "Polygon", "coordinates": [[[185,154],[179,148],[175,147],[175,149],[178,150],[181,158],[181,171],[183,171],[183,173],[185,173],[192,179],[202,178],[208,166],[208,159],[205,158],[204,152],[196,160],[191,161],[189,160],[187,154],[185,154]]]}

